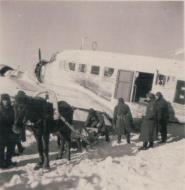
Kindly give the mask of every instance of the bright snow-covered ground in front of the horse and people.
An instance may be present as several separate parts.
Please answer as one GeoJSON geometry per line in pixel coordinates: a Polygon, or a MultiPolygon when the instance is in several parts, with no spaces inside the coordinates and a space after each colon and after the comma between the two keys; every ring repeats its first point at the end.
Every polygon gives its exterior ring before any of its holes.
{"type": "Polygon", "coordinates": [[[72,160],[55,160],[57,144],[51,137],[51,170],[34,171],[38,155],[31,132],[27,133],[24,155],[15,157],[16,168],[0,170],[1,190],[183,190],[185,189],[185,139],[169,137],[164,145],[138,151],[141,142],[133,134],[130,145],[125,139],[117,144],[111,137],[78,153],[72,160]]]}

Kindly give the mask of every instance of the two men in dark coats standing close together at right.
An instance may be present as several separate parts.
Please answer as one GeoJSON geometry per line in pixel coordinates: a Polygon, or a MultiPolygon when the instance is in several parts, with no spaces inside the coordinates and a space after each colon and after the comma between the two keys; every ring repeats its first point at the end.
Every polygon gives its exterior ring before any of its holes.
{"type": "Polygon", "coordinates": [[[143,141],[141,150],[152,148],[154,141],[158,139],[159,132],[161,134],[160,143],[165,143],[167,140],[168,102],[160,92],[157,92],[156,95],[149,93],[147,101],[146,114],[141,125],[140,140],[143,141]]]}

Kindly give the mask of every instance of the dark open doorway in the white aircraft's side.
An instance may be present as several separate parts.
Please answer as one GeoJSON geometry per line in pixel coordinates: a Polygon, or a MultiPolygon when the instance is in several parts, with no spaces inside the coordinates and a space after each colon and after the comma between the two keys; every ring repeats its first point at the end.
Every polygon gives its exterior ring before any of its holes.
{"type": "Polygon", "coordinates": [[[133,102],[138,102],[140,98],[145,98],[146,94],[151,91],[154,74],[138,72],[135,79],[133,102]]]}

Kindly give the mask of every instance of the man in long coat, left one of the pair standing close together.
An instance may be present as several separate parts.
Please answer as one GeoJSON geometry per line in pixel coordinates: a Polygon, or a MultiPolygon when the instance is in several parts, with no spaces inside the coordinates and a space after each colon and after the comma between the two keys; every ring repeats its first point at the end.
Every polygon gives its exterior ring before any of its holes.
{"type": "Polygon", "coordinates": [[[156,108],[155,108],[155,95],[149,93],[147,95],[148,105],[146,114],[141,124],[140,140],[143,141],[143,146],[139,150],[146,150],[153,147],[153,142],[156,140],[156,108]],[[149,146],[148,146],[149,143],[149,146]]]}

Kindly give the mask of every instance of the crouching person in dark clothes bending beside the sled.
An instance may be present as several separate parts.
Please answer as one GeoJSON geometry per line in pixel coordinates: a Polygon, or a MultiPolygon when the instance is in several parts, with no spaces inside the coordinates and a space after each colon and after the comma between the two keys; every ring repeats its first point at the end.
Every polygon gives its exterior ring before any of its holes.
{"type": "Polygon", "coordinates": [[[93,109],[90,109],[89,115],[85,122],[85,126],[91,127],[91,128],[97,128],[98,133],[100,133],[101,135],[105,135],[106,141],[110,140],[109,139],[109,129],[105,125],[105,121],[104,121],[102,114],[100,114],[99,112],[97,112],[93,109]]]}

